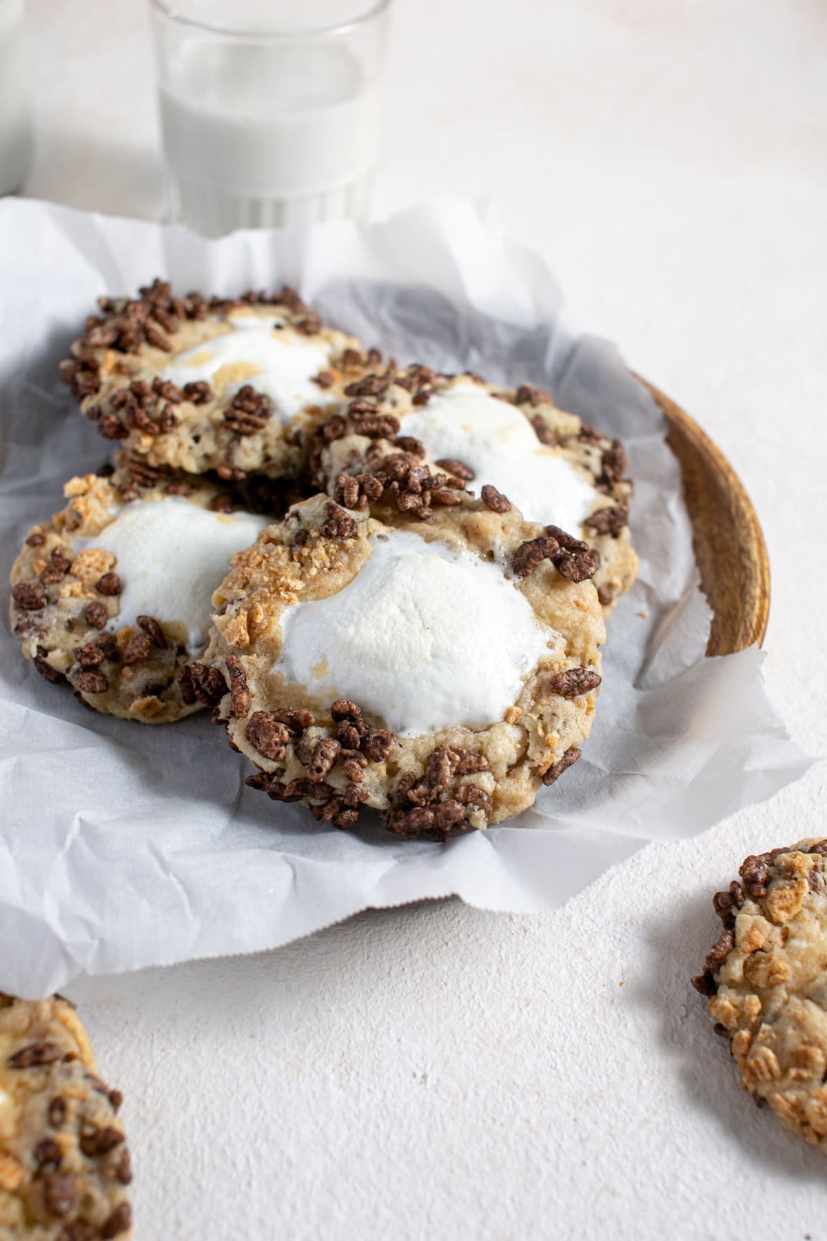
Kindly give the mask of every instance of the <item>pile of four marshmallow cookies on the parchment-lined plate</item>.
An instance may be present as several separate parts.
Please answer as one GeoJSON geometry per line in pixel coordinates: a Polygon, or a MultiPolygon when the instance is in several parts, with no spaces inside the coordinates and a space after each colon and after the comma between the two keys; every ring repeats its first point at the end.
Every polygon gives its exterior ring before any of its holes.
{"type": "Polygon", "coordinates": [[[123,719],[210,707],[248,784],[340,828],[531,805],[589,736],[635,578],[617,441],[383,361],[289,289],[100,310],[63,377],[117,452],[15,562],[26,658],[123,719]]]}

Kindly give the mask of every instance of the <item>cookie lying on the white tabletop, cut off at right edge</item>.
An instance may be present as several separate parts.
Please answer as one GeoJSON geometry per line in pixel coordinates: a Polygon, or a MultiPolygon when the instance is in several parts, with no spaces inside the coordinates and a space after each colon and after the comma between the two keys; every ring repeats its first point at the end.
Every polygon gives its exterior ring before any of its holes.
{"type": "Polygon", "coordinates": [[[717,892],[724,928],[694,987],[748,1090],[827,1152],[827,840],[748,858],[717,892]]]}

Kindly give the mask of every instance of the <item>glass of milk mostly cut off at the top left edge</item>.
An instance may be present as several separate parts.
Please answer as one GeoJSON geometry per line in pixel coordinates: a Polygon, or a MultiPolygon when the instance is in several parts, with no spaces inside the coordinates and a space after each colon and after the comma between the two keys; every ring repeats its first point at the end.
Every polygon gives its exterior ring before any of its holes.
{"type": "Polygon", "coordinates": [[[24,0],[0,0],[0,194],[19,190],[31,159],[31,83],[24,0]]]}

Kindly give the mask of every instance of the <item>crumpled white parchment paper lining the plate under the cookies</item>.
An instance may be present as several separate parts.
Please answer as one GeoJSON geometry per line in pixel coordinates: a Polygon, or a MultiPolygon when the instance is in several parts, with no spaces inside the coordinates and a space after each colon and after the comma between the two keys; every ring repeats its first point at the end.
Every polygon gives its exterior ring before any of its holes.
{"type": "Polygon", "coordinates": [[[467,202],[218,242],[1,202],[4,575],[66,479],[107,457],[58,360],[99,294],[156,274],[224,294],[294,283],[399,361],[548,386],[626,443],[640,582],[611,619],[583,759],[518,820],[446,845],[372,823],[342,833],[245,789],[248,768],[206,714],[159,728],[91,714],[22,660],[5,622],[1,989],[33,997],[79,970],[254,952],[366,906],[448,894],[551,910],[643,841],[697,833],[806,769],[766,700],[760,653],[703,658],[709,613],[660,412],[610,345],[560,326],[542,261],[467,202]]]}

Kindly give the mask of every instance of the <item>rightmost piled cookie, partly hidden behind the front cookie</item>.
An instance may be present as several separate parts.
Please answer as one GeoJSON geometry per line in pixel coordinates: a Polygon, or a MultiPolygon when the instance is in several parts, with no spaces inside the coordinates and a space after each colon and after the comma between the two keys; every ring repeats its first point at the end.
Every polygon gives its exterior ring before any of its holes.
{"type": "MultiPolygon", "coordinates": [[[[600,556],[595,586],[610,609],[637,573],[629,532],[631,482],[617,439],[558,410],[547,392],[387,367],[352,386],[356,400],[315,432],[315,482],[351,508],[353,478],[384,484],[387,513],[419,511],[419,472],[446,474],[495,511],[511,500],[529,521],[568,531],[600,556]]],[[[392,517],[391,517],[392,520],[392,517]]]]}

